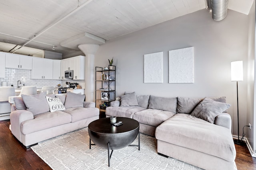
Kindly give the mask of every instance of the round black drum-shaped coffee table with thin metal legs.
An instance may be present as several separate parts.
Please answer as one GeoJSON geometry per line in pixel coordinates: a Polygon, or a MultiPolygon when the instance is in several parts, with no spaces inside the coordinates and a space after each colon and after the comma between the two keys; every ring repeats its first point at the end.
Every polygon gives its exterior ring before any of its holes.
{"type": "Polygon", "coordinates": [[[140,124],[138,121],[126,117],[116,117],[116,122],[122,121],[123,125],[114,126],[110,123],[110,117],[92,121],[88,125],[88,134],[91,145],[108,149],[108,166],[113,150],[127,146],[138,147],[140,150],[140,124]],[[139,136],[138,145],[130,145],[139,136]],[[91,143],[91,140],[94,144],[91,143]],[[111,154],[109,154],[109,150],[111,154]]]}

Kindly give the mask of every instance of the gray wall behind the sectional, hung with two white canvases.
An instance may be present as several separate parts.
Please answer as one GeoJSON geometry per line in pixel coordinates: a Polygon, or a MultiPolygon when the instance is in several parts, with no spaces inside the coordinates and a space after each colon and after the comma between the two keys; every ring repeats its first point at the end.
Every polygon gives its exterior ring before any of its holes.
{"type": "MultiPolygon", "coordinates": [[[[214,97],[226,96],[232,106],[232,133],[236,128],[236,82],[231,82],[230,62],[243,60],[247,70],[248,16],[228,10],[222,21],[212,20],[208,10],[166,21],[134,33],[106,41],[95,57],[96,66],[108,66],[114,57],[117,67],[116,96],[125,91],[155,96],[214,97]],[[194,83],[168,83],[168,51],[194,47],[194,83]],[[164,81],[143,83],[144,54],[163,51],[164,81]],[[234,112],[234,115],[233,115],[234,112]]],[[[239,82],[240,126],[246,124],[247,78],[239,82]]],[[[242,134],[242,129],[240,129],[242,134]]]]}

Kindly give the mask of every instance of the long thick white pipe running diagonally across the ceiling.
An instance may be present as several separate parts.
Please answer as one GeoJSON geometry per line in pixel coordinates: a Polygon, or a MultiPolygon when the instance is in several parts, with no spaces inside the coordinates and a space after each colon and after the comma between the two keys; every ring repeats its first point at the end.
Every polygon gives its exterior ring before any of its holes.
{"type": "Polygon", "coordinates": [[[60,20],[52,23],[51,25],[49,25],[48,27],[46,27],[45,29],[43,29],[42,31],[40,31],[40,33],[38,33],[37,35],[35,35],[32,39],[28,40],[26,43],[24,43],[22,46],[20,46],[18,49],[16,49],[14,52],[18,51],[19,49],[21,49],[22,47],[24,47],[25,45],[27,45],[28,43],[30,43],[31,41],[33,41],[34,39],[36,39],[37,37],[39,37],[42,33],[48,31],[48,29],[50,29],[51,27],[55,26],[56,24],[60,23],[61,21],[65,20],[66,18],[68,18],[69,16],[71,16],[72,14],[74,14],[75,12],[77,12],[78,10],[80,10],[81,8],[83,8],[84,6],[86,6],[87,4],[89,4],[90,2],[92,2],[93,0],[88,0],[86,1],[84,4],[80,5],[78,4],[77,8],[74,9],[73,11],[71,11],[70,13],[68,13],[66,16],[64,16],[63,18],[61,18],[60,20]]]}

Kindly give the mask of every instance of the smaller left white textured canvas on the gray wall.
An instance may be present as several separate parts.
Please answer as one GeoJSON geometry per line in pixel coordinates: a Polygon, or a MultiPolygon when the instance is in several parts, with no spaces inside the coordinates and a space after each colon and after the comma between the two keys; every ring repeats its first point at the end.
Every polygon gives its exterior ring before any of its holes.
{"type": "Polygon", "coordinates": [[[144,55],[144,83],[163,82],[163,52],[144,55]]]}

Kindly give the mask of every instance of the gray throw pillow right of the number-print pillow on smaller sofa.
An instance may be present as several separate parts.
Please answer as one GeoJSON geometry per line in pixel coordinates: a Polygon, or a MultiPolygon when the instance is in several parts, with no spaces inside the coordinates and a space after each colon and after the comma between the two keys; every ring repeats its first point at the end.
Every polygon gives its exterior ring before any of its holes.
{"type": "Polygon", "coordinates": [[[71,107],[84,107],[85,95],[67,92],[64,106],[66,109],[71,107]]]}

